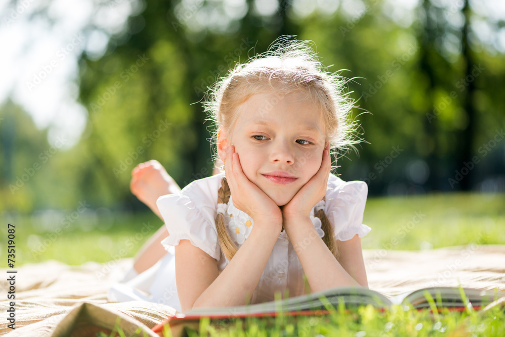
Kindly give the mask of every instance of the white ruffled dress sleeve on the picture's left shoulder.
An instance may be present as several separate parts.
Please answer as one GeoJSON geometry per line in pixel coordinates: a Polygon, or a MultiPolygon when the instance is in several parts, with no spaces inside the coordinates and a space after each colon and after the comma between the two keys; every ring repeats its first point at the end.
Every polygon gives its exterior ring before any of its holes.
{"type": "Polygon", "coordinates": [[[191,245],[219,261],[221,248],[212,207],[198,208],[183,194],[162,196],[156,204],[169,232],[169,236],[161,242],[168,252],[174,254],[174,246],[180,240],[188,239],[191,245]]]}

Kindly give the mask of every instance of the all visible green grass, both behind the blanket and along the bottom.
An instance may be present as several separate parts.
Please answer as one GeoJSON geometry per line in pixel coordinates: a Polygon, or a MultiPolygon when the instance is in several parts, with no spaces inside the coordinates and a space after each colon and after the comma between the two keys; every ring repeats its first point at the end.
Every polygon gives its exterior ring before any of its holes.
{"type": "MultiPolygon", "coordinates": [[[[505,195],[440,194],[419,197],[370,198],[364,223],[372,231],[364,249],[419,250],[468,244],[505,244],[505,195]]],[[[154,214],[79,216],[70,226],[60,214],[47,217],[4,217],[16,227],[16,265],[56,259],[71,265],[132,257],[161,225],[154,214]],[[42,221],[43,220],[43,221],[42,221]],[[65,227],[65,228],[64,228],[65,227]]],[[[7,225],[5,225],[5,231],[7,225]]],[[[2,237],[5,237],[2,235],[2,237]]],[[[0,259],[7,260],[7,239],[0,242],[0,259]]],[[[225,326],[200,322],[199,332],[212,336],[502,336],[505,311],[443,312],[434,315],[405,306],[385,312],[363,307],[324,317],[251,319],[225,326]]],[[[115,332],[112,335],[121,335],[115,332]]],[[[169,334],[167,334],[169,335],[169,334]]]]}

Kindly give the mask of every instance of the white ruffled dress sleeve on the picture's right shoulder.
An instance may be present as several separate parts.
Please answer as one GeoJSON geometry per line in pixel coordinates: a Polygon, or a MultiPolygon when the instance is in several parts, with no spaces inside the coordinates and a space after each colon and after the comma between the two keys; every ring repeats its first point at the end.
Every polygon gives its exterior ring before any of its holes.
{"type": "Polygon", "coordinates": [[[363,224],[368,185],[364,181],[345,182],[330,175],[326,191],[326,215],[335,228],[335,237],[349,240],[358,234],[365,236],[372,230],[363,224]]]}

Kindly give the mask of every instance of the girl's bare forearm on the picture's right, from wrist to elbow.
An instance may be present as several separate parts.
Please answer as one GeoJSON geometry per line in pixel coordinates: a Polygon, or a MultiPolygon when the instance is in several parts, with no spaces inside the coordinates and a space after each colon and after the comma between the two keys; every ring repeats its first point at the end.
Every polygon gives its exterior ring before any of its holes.
{"type": "Polygon", "coordinates": [[[352,278],[330,252],[310,219],[284,223],[286,233],[304,268],[312,292],[360,284],[352,278]]]}

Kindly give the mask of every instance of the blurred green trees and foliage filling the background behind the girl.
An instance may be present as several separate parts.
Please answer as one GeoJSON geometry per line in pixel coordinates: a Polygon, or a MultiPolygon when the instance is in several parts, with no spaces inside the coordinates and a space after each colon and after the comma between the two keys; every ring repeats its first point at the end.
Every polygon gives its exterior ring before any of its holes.
{"type": "MultiPolygon", "coordinates": [[[[468,2],[455,9],[423,0],[393,15],[387,1],[342,2],[334,12],[282,1],[266,15],[248,0],[228,21],[222,2],[137,3],[143,11],[110,36],[104,56],[81,56],[79,101],[88,116],[76,146],[54,149],[43,162],[54,148],[47,131],[11,102],[0,108],[0,212],[73,210],[83,201],[93,209],[145,210],[128,183],[135,165],[150,159],[181,186],[208,176],[212,125],[200,104],[207,87],[282,34],[314,41],[329,71],[348,69],[341,74],[351,78],[354,118],[367,142],[358,146],[359,157],[339,159],[344,180],[365,180],[371,196],[503,190],[505,141],[482,147],[505,125],[505,56],[472,33],[471,23],[484,20],[495,34],[504,23],[468,2]],[[214,18],[207,25],[197,20],[206,13],[214,18]],[[475,156],[479,163],[451,183],[475,156]]],[[[99,27],[90,22],[86,29],[99,27]]]]}

